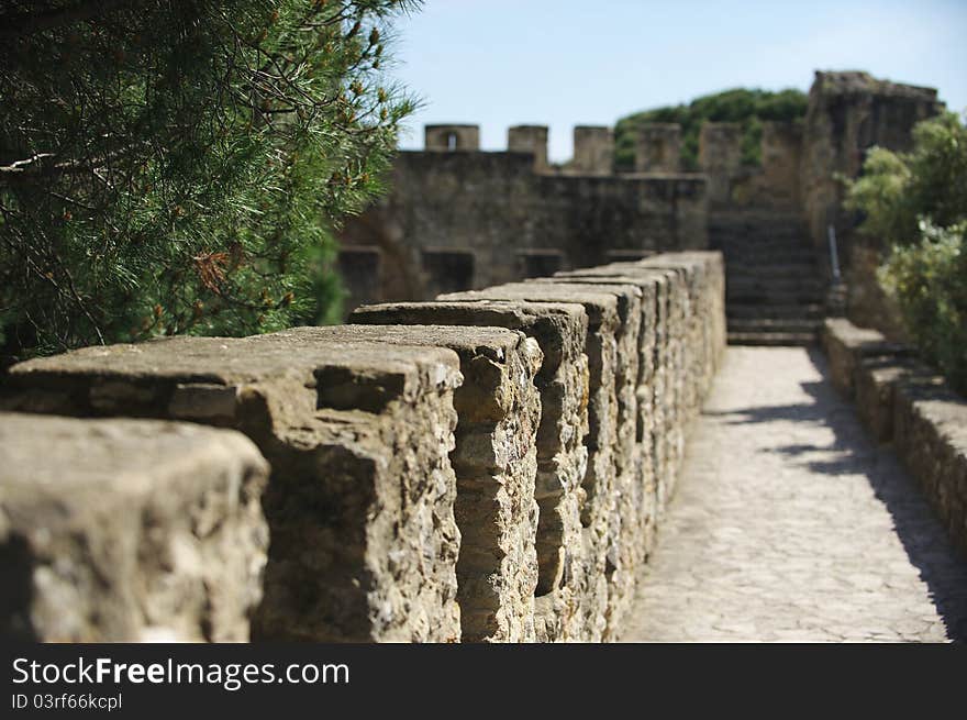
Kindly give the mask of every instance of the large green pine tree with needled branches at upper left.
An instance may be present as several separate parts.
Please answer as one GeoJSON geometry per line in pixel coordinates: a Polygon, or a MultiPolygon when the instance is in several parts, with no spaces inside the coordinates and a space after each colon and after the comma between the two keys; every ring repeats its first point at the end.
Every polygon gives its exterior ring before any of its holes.
{"type": "Polygon", "coordinates": [[[332,231],[412,102],[407,0],[26,0],[0,14],[0,364],[338,315],[332,231]]]}

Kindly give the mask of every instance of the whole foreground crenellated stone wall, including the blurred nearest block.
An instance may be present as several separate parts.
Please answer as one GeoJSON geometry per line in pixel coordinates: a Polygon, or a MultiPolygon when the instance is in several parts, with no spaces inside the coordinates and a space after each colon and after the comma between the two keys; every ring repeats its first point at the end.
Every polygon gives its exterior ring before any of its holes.
{"type": "Polygon", "coordinates": [[[14,366],[0,634],[619,639],[723,286],[670,253],[14,366]]]}

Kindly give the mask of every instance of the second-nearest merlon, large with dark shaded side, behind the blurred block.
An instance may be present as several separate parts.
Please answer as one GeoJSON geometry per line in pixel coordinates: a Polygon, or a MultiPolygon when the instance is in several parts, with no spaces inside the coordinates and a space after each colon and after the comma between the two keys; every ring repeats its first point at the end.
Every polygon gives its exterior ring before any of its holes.
{"type": "Polygon", "coordinates": [[[229,425],[271,464],[256,639],[459,638],[447,453],[458,358],[292,330],[90,347],[11,369],[7,408],[229,425]]]}

